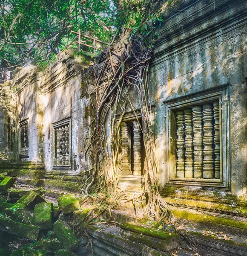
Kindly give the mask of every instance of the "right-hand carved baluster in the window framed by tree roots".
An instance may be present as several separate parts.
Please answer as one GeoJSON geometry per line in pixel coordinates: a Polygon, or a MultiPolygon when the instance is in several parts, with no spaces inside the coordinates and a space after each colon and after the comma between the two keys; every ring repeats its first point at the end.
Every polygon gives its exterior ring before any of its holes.
{"type": "Polygon", "coordinates": [[[133,151],[134,151],[134,166],[133,175],[141,175],[141,128],[138,121],[133,121],[133,151]]]}

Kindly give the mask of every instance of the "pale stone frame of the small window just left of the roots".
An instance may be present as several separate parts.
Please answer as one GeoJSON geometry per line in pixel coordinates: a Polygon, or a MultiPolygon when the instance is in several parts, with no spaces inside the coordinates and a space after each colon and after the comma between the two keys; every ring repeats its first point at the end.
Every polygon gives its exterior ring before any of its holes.
{"type": "Polygon", "coordinates": [[[67,117],[65,119],[62,119],[60,121],[57,121],[57,122],[54,122],[52,123],[52,169],[53,170],[65,170],[65,171],[68,171],[68,170],[71,170],[71,164],[72,164],[72,161],[71,161],[71,117],[67,117]],[[56,147],[56,144],[55,144],[55,129],[60,127],[60,126],[63,126],[63,125],[69,125],[69,165],[55,165],[55,161],[56,161],[56,158],[55,158],[55,147],[56,147]]]}

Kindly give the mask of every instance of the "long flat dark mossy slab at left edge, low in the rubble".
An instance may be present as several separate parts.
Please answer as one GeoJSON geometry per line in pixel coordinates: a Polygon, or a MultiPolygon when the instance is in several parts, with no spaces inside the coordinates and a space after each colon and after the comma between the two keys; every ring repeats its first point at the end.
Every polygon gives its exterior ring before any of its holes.
{"type": "MultiPolygon", "coordinates": [[[[12,220],[0,218],[0,230],[32,240],[37,240],[40,227],[22,224],[12,220]]],[[[1,255],[1,254],[0,254],[1,255]]]]}

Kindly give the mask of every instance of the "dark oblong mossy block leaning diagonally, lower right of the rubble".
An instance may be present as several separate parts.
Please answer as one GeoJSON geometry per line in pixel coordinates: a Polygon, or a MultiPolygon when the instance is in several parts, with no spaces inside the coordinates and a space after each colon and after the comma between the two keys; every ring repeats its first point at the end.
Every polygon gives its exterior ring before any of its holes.
{"type": "Polygon", "coordinates": [[[78,240],[75,237],[72,229],[63,221],[56,221],[53,225],[53,230],[63,244],[64,249],[74,251],[78,247],[78,240]]]}

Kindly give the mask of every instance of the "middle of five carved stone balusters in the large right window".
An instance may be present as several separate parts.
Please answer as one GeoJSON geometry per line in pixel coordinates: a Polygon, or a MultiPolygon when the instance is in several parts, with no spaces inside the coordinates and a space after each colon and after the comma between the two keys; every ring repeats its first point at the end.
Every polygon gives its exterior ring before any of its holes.
{"type": "Polygon", "coordinates": [[[193,146],[194,146],[194,178],[202,177],[202,110],[201,106],[192,108],[193,115],[193,146]]]}

